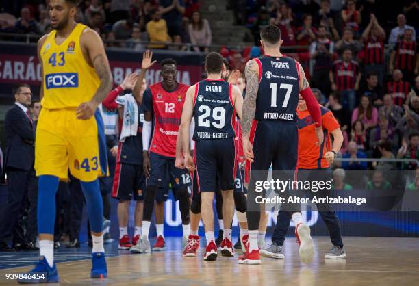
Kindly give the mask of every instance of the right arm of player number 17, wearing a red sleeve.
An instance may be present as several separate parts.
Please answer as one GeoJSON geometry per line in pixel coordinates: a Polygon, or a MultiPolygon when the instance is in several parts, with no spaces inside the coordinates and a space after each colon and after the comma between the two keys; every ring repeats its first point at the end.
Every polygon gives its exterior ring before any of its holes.
{"type": "Polygon", "coordinates": [[[303,96],[307,104],[307,109],[312,116],[315,125],[316,125],[316,135],[318,142],[317,145],[322,144],[324,139],[324,134],[322,130],[322,114],[320,112],[320,106],[318,105],[316,97],[310,88],[310,85],[307,81],[307,77],[305,77],[304,69],[299,62],[296,62],[299,68],[299,75],[300,75],[300,94],[303,96]]]}

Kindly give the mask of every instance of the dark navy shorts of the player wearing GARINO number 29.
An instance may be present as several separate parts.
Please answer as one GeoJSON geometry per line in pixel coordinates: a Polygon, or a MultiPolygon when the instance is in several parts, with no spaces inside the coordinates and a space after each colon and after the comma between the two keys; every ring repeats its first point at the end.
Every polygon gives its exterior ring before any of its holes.
{"type": "Polygon", "coordinates": [[[233,190],[236,177],[234,138],[204,139],[195,143],[196,179],[200,192],[233,190]],[[218,184],[217,184],[218,179],[218,184]]]}

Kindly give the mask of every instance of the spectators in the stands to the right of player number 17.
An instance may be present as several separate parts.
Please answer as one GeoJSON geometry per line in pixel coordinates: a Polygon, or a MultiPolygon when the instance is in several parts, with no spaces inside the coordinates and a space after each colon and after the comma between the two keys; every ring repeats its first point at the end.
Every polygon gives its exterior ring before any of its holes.
{"type": "MultiPolygon", "coordinates": [[[[228,7],[235,11],[236,24],[253,34],[255,46],[241,51],[244,62],[263,53],[255,51],[262,27],[281,29],[283,52],[303,64],[319,103],[342,126],[340,155],[351,160],[338,167],[416,170],[415,163],[372,164],[356,158],[419,156],[418,1],[230,0],[228,7]],[[234,9],[240,5],[246,8],[234,9]]],[[[222,52],[238,57],[238,51],[222,52]]]]}

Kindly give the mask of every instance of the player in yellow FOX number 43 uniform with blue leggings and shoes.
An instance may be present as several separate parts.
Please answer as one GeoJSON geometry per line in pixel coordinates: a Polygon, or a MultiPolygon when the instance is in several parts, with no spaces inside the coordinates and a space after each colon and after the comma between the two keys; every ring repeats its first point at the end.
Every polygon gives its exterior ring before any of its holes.
{"type": "Polygon", "coordinates": [[[112,88],[103,42],[96,31],[74,21],[76,0],[50,0],[53,31],[38,42],[42,64],[42,110],[35,168],[39,176],[40,261],[21,283],[57,282],[53,262],[55,193],[68,169],[81,181],[92,229],[91,278],[106,278],[103,203],[97,177],[107,173],[105,135],[98,105],[112,88]],[[103,150],[101,146],[104,146],[103,150]],[[46,274],[42,277],[33,274],[46,274]]]}

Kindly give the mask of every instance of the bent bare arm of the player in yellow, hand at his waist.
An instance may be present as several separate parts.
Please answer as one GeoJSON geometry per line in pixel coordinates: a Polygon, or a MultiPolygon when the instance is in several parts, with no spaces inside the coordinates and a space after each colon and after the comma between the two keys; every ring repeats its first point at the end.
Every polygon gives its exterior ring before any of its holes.
{"type": "Polygon", "coordinates": [[[81,103],[77,107],[77,118],[87,120],[91,118],[98,105],[105,99],[112,89],[112,74],[105,53],[105,47],[99,34],[92,29],[85,29],[80,37],[81,47],[86,51],[88,63],[94,67],[101,81],[99,88],[88,103],[81,103]]]}

